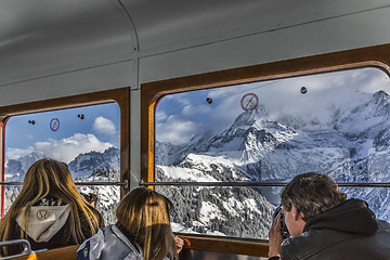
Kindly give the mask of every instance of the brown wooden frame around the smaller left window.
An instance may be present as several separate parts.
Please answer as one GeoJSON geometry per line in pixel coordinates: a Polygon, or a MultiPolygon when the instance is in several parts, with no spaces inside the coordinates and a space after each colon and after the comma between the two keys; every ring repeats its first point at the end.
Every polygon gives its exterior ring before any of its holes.
{"type": "MultiPolygon", "coordinates": [[[[88,105],[99,105],[110,102],[116,102],[119,105],[120,109],[120,182],[128,183],[127,186],[120,186],[120,196],[122,197],[130,191],[130,88],[99,91],[65,98],[29,102],[24,104],[2,106],[0,107],[1,139],[4,139],[2,128],[3,122],[8,117],[31,113],[75,108],[88,105]]],[[[4,142],[2,142],[1,145],[3,153],[4,142]]],[[[4,165],[3,158],[1,159],[1,165],[4,165]]]]}

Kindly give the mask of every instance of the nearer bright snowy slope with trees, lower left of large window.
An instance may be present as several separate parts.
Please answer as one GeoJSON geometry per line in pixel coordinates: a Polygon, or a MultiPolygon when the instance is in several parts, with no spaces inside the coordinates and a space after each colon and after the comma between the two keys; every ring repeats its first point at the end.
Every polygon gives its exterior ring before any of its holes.
{"type": "MultiPolygon", "coordinates": [[[[162,181],[224,182],[247,180],[234,162],[223,157],[190,154],[178,166],[157,167],[162,181]]],[[[250,187],[156,188],[174,204],[174,231],[265,238],[274,206],[250,187]],[[256,226],[256,229],[253,229],[256,226]]]]}

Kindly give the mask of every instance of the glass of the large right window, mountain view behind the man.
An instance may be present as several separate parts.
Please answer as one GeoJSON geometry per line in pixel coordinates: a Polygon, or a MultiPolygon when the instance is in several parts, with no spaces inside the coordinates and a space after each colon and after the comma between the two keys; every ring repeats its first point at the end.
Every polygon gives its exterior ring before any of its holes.
{"type": "Polygon", "coordinates": [[[156,188],[183,233],[266,239],[282,186],[308,171],[389,221],[389,118],[390,80],[375,67],[168,94],[156,188]]]}

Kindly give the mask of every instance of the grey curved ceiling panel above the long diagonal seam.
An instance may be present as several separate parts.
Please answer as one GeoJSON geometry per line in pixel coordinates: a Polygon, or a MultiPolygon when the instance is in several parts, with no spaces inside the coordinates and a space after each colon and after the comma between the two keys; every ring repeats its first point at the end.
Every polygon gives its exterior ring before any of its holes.
{"type": "Polygon", "coordinates": [[[0,86],[385,5],[387,0],[1,0],[0,86]]]}

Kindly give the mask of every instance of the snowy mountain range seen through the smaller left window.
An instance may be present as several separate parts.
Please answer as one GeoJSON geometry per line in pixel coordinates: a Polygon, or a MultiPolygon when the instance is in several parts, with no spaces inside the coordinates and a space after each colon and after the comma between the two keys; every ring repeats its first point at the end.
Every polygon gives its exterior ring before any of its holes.
{"type": "MultiPolygon", "coordinates": [[[[5,161],[5,180],[22,182],[27,169],[42,155],[32,153],[18,159],[5,161]]],[[[68,164],[68,168],[75,182],[93,181],[119,181],[120,177],[120,153],[112,146],[100,152],[79,154],[68,164]]],[[[5,188],[5,211],[17,196],[21,186],[6,186],[5,188]]],[[[99,200],[96,209],[102,213],[105,223],[115,223],[115,208],[120,199],[119,186],[78,186],[79,191],[88,194],[94,193],[99,200]]]]}

